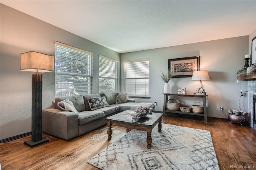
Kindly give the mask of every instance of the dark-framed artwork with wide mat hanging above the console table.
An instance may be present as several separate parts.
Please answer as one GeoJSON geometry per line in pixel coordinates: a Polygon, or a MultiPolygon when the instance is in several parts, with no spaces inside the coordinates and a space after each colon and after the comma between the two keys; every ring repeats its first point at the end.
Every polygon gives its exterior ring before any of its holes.
{"type": "Polygon", "coordinates": [[[200,56],[168,59],[168,69],[172,71],[173,78],[192,77],[194,71],[200,67],[200,56]]]}

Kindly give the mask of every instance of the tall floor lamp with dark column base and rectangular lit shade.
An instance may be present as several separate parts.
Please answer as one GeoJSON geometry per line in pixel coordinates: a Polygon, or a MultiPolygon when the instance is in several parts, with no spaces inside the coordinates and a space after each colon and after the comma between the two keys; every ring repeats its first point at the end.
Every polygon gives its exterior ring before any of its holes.
{"type": "Polygon", "coordinates": [[[38,72],[54,71],[54,57],[34,51],[20,54],[20,70],[36,71],[32,74],[32,134],[31,140],[24,142],[31,148],[48,139],[42,138],[42,74],[38,72]]]}

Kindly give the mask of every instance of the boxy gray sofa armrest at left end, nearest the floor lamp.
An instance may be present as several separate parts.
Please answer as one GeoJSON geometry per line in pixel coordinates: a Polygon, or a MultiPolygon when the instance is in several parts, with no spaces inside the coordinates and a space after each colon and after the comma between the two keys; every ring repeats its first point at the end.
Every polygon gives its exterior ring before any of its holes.
{"type": "Polygon", "coordinates": [[[78,136],[78,114],[59,109],[42,111],[42,131],[69,140],[78,136]]]}

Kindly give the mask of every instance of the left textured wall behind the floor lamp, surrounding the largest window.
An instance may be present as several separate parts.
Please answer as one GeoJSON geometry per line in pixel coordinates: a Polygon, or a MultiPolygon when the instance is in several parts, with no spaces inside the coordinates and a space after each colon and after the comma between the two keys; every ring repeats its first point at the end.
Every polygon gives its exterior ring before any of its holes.
{"type": "MultiPolygon", "coordinates": [[[[46,22],[0,4],[0,139],[31,131],[31,76],[20,71],[20,53],[55,55],[54,41],[93,53],[93,93],[98,93],[98,55],[120,54],[46,22]]],[[[63,21],[65,22],[65,21],[63,21]]],[[[54,72],[43,73],[43,109],[55,97],[54,72]]]]}

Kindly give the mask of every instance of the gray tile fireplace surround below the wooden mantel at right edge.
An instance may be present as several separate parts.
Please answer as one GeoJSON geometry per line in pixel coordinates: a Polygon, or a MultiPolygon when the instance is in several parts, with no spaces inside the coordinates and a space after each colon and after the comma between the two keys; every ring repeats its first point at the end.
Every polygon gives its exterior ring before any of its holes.
{"type": "Polygon", "coordinates": [[[253,95],[256,95],[256,80],[248,81],[248,113],[250,113],[248,123],[256,129],[256,125],[253,123],[253,95]]]}

